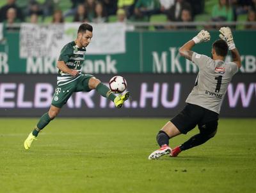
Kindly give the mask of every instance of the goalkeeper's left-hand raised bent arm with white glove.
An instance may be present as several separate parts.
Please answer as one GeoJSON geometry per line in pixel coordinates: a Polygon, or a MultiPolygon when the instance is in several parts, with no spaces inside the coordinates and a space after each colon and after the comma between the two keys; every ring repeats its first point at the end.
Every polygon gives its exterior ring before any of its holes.
{"type": "Polygon", "coordinates": [[[185,57],[189,61],[192,60],[193,51],[191,49],[196,43],[201,43],[209,41],[211,39],[210,33],[208,31],[200,31],[193,39],[189,40],[183,46],[180,47],[179,53],[181,56],[185,57]]]}

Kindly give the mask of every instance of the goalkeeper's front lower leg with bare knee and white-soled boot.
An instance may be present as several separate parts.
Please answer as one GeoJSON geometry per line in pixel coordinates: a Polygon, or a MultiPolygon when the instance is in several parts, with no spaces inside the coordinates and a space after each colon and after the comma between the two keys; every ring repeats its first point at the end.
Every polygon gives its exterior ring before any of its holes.
{"type": "Polygon", "coordinates": [[[158,132],[156,140],[160,148],[148,156],[148,159],[158,159],[159,157],[170,154],[172,149],[169,147],[169,139],[180,134],[180,131],[172,122],[167,122],[161,131],[158,132]]]}

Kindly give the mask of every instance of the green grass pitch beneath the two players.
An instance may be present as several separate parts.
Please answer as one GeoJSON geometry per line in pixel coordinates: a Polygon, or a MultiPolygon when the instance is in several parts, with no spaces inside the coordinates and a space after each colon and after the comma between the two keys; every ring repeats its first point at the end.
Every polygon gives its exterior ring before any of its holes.
{"type": "MultiPolygon", "coordinates": [[[[0,119],[0,192],[256,192],[256,119],[220,119],[204,145],[148,161],[168,118],[0,119]]],[[[198,132],[170,140],[175,147],[198,132]]]]}

